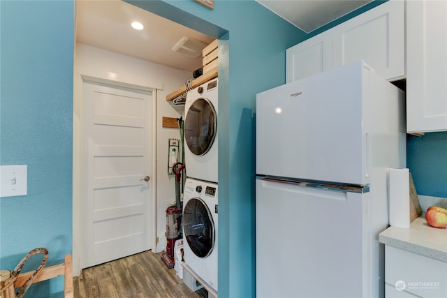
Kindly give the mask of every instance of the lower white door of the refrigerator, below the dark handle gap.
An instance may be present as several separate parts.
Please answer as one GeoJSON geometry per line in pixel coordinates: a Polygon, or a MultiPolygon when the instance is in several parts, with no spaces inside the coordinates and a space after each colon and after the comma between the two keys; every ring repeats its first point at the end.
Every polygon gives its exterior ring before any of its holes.
{"type": "Polygon", "coordinates": [[[257,179],[256,297],[374,297],[368,200],[369,193],[257,179]]]}

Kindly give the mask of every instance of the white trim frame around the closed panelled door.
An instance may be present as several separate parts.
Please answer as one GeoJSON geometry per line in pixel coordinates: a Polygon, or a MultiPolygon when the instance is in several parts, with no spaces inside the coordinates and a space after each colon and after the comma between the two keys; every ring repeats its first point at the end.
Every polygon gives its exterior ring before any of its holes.
{"type": "MultiPolygon", "coordinates": [[[[75,84],[76,86],[82,87],[82,84],[84,82],[97,82],[97,83],[103,83],[108,84],[112,87],[125,87],[129,89],[136,89],[136,90],[142,90],[142,91],[150,91],[152,92],[152,176],[151,180],[153,183],[152,187],[152,249],[156,247],[156,100],[157,100],[157,93],[156,89],[149,88],[145,86],[140,86],[136,84],[129,84],[125,82],[117,82],[113,80],[106,80],[100,77],[91,77],[88,75],[80,75],[78,79],[75,78],[75,82],[80,82],[80,84],[75,84]]],[[[82,92],[81,92],[82,94],[82,92]]],[[[78,91],[74,91],[74,96],[79,96],[78,91]]],[[[83,98],[80,96],[80,104],[82,105],[83,98]]],[[[82,108],[78,109],[78,117],[77,119],[80,119],[81,123],[81,129],[80,131],[73,131],[73,141],[81,142],[82,143],[82,108]],[[80,135],[79,135],[80,134],[80,135]],[[79,137],[77,137],[79,135],[79,137]]],[[[74,118],[75,119],[75,118],[74,118]]],[[[78,129],[78,126],[73,126],[75,129],[78,129]]],[[[73,169],[78,169],[78,171],[73,172],[73,175],[80,175],[82,174],[82,144],[75,144],[75,147],[80,148],[79,154],[76,154],[78,150],[73,150],[73,169]]],[[[74,177],[75,178],[75,177],[74,177]]],[[[84,183],[82,181],[82,177],[79,179],[75,178],[75,181],[78,182],[78,185],[75,185],[75,187],[78,187],[80,193],[82,193],[82,190],[84,188],[84,183]]],[[[76,191],[73,188],[73,193],[78,194],[78,191],[76,191]]],[[[81,218],[82,218],[82,206],[81,206],[81,197],[80,195],[73,195],[73,274],[74,276],[78,276],[81,272],[81,266],[80,266],[80,260],[82,255],[82,230],[81,230],[81,218]]]]}

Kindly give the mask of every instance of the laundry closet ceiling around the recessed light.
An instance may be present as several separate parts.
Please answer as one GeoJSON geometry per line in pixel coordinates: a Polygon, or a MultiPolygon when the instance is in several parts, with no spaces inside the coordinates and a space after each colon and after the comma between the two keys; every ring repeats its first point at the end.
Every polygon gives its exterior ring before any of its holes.
{"type": "Polygon", "coordinates": [[[78,43],[192,72],[202,67],[202,56],[192,59],[171,50],[183,36],[207,44],[214,40],[124,1],[77,1],[78,43]],[[145,26],[141,31],[131,27],[137,20],[145,26]]]}

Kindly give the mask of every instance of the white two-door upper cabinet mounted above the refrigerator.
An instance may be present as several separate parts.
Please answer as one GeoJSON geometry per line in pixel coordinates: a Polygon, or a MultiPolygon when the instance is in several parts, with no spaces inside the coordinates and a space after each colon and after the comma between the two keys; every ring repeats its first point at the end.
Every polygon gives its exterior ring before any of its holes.
{"type": "Polygon", "coordinates": [[[405,77],[405,2],[390,0],[286,50],[286,82],[364,59],[387,80],[405,77]]]}

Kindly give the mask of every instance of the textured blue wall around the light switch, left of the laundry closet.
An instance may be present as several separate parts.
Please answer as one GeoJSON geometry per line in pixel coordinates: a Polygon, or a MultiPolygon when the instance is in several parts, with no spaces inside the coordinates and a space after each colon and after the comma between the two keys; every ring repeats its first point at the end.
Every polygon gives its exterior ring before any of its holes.
{"type": "MultiPolygon", "coordinates": [[[[28,195],[0,198],[0,269],[41,246],[54,265],[72,248],[73,1],[0,1],[0,12],[0,164],[28,165],[28,195]]],[[[54,278],[27,297],[63,289],[54,278]]]]}

